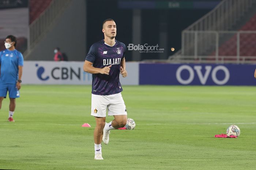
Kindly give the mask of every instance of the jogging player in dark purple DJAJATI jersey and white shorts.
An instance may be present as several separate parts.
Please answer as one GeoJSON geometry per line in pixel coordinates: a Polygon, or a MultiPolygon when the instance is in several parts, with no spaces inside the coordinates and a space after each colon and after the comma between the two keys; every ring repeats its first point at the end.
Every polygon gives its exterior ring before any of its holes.
{"type": "Polygon", "coordinates": [[[125,70],[125,50],[123,43],[117,41],[116,23],[113,19],[106,19],[102,25],[104,39],[94,43],[84,61],[83,69],[93,74],[91,115],[95,117],[94,129],[94,159],[101,160],[101,141],[109,143],[111,129],[122,128],[127,122],[127,112],[124,104],[119,81],[119,73],[127,76],[125,70]],[[106,123],[106,110],[108,116],[114,120],[106,123]]]}

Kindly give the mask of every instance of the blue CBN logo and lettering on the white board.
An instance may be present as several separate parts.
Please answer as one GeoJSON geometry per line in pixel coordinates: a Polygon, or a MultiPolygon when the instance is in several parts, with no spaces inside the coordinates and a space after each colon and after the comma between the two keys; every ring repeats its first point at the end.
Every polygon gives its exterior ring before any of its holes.
{"type": "Polygon", "coordinates": [[[83,80],[83,81],[90,81],[92,80],[92,76],[90,73],[84,72],[81,67],[72,68],[70,67],[53,67],[48,68],[48,72],[46,68],[43,66],[39,66],[35,64],[37,67],[37,77],[39,80],[47,81],[50,79],[53,80],[83,80]],[[50,72],[49,72],[50,70],[50,72]],[[48,74],[47,74],[48,73],[48,74]]]}

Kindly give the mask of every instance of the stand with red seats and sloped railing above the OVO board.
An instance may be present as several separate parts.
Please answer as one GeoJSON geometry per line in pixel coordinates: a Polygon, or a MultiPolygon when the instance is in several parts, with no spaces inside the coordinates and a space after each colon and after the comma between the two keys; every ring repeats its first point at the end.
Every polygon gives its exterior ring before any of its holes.
{"type": "Polygon", "coordinates": [[[168,62],[256,61],[255,7],[254,0],[221,1],[182,31],[182,48],[168,62]]]}

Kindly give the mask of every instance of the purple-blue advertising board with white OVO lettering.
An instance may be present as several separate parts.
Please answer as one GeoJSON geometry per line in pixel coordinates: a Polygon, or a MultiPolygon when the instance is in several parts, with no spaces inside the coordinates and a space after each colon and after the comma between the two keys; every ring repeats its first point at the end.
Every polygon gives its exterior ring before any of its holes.
{"type": "Polygon", "coordinates": [[[256,65],[140,64],[139,84],[256,85],[256,65]]]}

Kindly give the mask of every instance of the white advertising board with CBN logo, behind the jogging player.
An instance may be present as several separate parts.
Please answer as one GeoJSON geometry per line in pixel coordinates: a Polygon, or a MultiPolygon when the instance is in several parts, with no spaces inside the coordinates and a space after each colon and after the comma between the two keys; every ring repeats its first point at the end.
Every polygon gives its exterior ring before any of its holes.
{"type": "MultiPolygon", "coordinates": [[[[91,84],[92,75],[83,71],[83,61],[24,61],[22,82],[24,84],[91,84]]],[[[129,76],[123,85],[139,84],[139,63],[126,63],[129,76]]]]}

